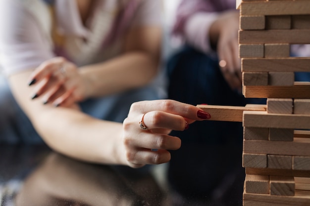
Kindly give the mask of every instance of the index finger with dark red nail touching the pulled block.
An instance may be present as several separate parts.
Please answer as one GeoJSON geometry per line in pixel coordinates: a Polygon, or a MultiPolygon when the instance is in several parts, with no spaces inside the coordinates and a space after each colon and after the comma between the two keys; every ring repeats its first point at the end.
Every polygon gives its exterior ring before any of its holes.
{"type": "Polygon", "coordinates": [[[139,111],[142,114],[151,111],[162,111],[198,121],[210,119],[210,114],[202,109],[194,105],[170,99],[135,102],[131,105],[130,112],[136,111],[139,111]]]}

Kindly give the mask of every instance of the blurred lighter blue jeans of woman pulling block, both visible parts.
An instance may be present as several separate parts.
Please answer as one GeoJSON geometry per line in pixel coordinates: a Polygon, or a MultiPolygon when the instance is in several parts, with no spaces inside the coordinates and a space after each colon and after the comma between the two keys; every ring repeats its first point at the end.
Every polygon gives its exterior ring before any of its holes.
{"type": "MultiPolygon", "coordinates": [[[[81,109],[92,117],[123,122],[133,102],[158,99],[153,85],[80,103],[81,109]]],[[[31,122],[13,98],[8,83],[0,75],[0,143],[43,144],[31,122]]]]}

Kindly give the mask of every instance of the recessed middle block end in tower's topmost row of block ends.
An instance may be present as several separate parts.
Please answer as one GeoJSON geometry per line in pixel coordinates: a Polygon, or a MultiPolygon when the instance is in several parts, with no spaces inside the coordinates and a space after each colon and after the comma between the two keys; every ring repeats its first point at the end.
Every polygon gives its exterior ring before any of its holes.
{"type": "Polygon", "coordinates": [[[266,29],[291,29],[290,15],[266,16],[266,29]]]}

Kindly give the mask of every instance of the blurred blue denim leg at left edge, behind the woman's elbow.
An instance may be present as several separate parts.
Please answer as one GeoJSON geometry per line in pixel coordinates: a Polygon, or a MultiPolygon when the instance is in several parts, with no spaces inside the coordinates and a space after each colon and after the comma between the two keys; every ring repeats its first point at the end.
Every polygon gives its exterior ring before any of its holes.
{"type": "Polygon", "coordinates": [[[13,98],[8,82],[0,75],[0,143],[42,144],[43,140],[13,98]]]}

